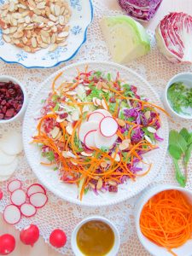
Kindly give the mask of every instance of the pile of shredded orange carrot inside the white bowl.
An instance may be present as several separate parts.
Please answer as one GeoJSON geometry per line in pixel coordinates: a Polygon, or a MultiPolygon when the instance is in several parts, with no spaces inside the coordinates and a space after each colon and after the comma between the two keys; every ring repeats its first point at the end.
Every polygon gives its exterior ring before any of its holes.
{"type": "Polygon", "coordinates": [[[192,238],[192,206],[178,190],[154,195],[143,207],[140,227],[144,236],[172,252],[192,238]]]}

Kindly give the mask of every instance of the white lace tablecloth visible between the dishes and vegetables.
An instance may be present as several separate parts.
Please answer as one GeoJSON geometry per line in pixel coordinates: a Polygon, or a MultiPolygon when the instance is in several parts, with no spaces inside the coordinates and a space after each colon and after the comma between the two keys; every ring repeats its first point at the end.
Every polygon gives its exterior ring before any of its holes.
{"type": "MultiPolygon", "coordinates": [[[[101,20],[103,15],[118,15],[121,13],[108,9],[105,6],[104,1],[93,0],[93,4],[95,15],[93,23],[88,31],[87,42],[84,44],[82,49],[79,50],[79,54],[75,59],[73,59],[73,61],[69,61],[67,64],[87,60],[110,61],[110,55],[100,31],[99,20],[101,20]]],[[[166,61],[156,49],[154,33],[148,32],[148,34],[151,38],[152,45],[150,53],[137,61],[130,62],[128,67],[134,69],[137,73],[142,75],[144,79],[147,79],[161,96],[165,90],[167,81],[171,79],[173,75],[181,72],[192,72],[192,67],[176,66],[166,61]]],[[[32,96],[33,91],[38,88],[39,84],[44,81],[44,79],[64,65],[65,64],[61,64],[60,67],[51,69],[27,70],[18,65],[9,65],[0,62],[0,74],[7,74],[19,79],[20,82],[25,84],[28,96],[30,97],[32,96]]],[[[191,121],[183,122],[181,119],[174,119],[174,123],[170,122],[170,128],[180,130],[183,126],[192,130],[191,121]]],[[[18,122],[12,125],[0,125],[0,136],[3,131],[9,129],[17,129],[21,131],[21,123],[18,122]]],[[[17,171],[15,172],[15,177],[22,180],[26,186],[36,182],[36,177],[32,173],[30,166],[28,166],[25,155],[20,154],[19,160],[20,162],[17,171]]],[[[165,164],[162,166],[161,172],[154,180],[154,184],[157,183],[177,184],[174,177],[172,160],[168,155],[166,156],[165,164]]],[[[0,183],[0,188],[2,187],[4,192],[3,201],[0,201],[0,212],[3,212],[5,205],[9,203],[9,195],[7,193],[6,185],[6,182],[0,183]]],[[[192,190],[192,161],[189,163],[187,188],[192,190]]],[[[49,241],[49,233],[51,230],[54,230],[55,228],[65,230],[67,233],[67,245],[58,251],[63,255],[68,256],[73,255],[70,246],[70,236],[74,226],[78,224],[81,219],[87,216],[99,214],[111,219],[119,228],[122,241],[119,255],[149,255],[137,238],[134,224],[134,206],[139,195],[131,200],[124,201],[112,207],[98,208],[79,207],[67,201],[61,201],[60,198],[57,198],[52,193],[48,193],[48,195],[49,203],[42,209],[39,209],[35,217],[22,218],[20,223],[15,225],[16,229],[21,230],[26,226],[26,224],[30,223],[38,224],[41,236],[44,237],[46,242],[49,241]]]]}

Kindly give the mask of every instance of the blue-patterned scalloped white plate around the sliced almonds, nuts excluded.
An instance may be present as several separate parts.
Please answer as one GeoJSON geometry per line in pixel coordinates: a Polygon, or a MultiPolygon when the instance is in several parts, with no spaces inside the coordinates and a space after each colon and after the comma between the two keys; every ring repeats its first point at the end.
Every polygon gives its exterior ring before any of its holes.
{"type": "MultiPolygon", "coordinates": [[[[61,62],[71,60],[86,41],[86,33],[93,19],[93,6],[91,0],[66,0],[72,10],[69,21],[71,28],[67,38],[66,47],[58,47],[55,51],[41,49],[36,53],[28,53],[15,45],[8,44],[3,40],[0,29],[0,59],[6,63],[18,63],[26,68],[56,67],[61,62]]],[[[6,0],[0,1],[0,6],[6,0]]]]}

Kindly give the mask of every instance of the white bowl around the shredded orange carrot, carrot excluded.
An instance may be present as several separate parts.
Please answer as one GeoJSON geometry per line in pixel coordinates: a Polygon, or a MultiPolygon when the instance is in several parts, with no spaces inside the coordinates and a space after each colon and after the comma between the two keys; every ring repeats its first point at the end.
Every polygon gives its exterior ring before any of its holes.
{"type": "MultiPolygon", "coordinates": [[[[137,229],[137,236],[141,243],[143,244],[143,247],[148,250],[148,253],[151,253],[154,256],[172,256],[171,253],[169,253],[166,248],[159,247],[158,245],[154,244],[154,242],[149,241],[147,237],[143,236],[143,233],[140,229],[140,216],[141,212],[143,210],[144,205],[148,202],[148,200],[153,197],[154,195],[160,193],[161,191],[170,190],[170,189],[177,189],[181,192],[183,192],[184,195],[186,195],[191,202],[192,205],[192,192],[183,189],[181,187],[177,187],[174,185],[157,185],[151,189],[148,189],[145,191],[140,198],[140,200],[137,202],[136,206],[136,212],[135,212],[135,222],[136,222],[136,229],[137,229]]],[[[177,254],[177,256],[191,256],[192,254],[192,240],[187,241],[185,244],[183,244],[182,247],[177,247],[175,249],[172,249],[174,253],[177,254]]]]}

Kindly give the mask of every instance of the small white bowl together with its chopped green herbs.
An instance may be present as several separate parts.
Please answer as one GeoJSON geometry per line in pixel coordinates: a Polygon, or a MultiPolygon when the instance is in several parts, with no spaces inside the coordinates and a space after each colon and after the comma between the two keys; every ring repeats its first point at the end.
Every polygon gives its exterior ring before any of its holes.
{"type": "Polygon", "coordinates": [[[170,79],[164,103],[172,117],[192,119],[192,73],[178,73],[170,79]]]}

